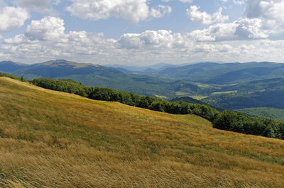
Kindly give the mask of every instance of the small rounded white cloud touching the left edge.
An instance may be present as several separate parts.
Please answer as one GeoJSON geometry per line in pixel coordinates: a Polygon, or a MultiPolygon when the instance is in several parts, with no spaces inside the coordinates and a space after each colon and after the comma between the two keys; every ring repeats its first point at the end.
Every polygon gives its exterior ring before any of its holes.
{"type": "Polygon", "coordinates": [[[29,14],[25,9],[6,6],[0,12],[0,32],[20,28],[28,18],[29,14]]]}

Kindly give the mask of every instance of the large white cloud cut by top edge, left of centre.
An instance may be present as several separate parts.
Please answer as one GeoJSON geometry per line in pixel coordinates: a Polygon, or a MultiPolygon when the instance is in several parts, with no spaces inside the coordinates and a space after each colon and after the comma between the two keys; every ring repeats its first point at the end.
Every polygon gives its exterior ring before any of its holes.
{"type": "Polygon", "coordinates": [[[147,0],[72,0],[67,11],[83,19],[123,18],[138,23],[146,18],[160,18],[171,12],[170,6],[158,6],[149,10],[147,0]]]}

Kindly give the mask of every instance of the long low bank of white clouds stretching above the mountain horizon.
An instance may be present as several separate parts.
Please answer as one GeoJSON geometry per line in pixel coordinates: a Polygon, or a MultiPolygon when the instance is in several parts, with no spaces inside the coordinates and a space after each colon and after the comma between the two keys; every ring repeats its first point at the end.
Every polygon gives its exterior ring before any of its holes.
{"type": "MultiPolygon", "coordinates": [[[[225,24],[225,23],[219,23],[225,24]]],[[[219,26],[222,28],[222,26],[219,26]]],[[[26,35],[6,38],[0,50],[6,59],[21,62],[40,62],[64,58],[77,62],[133,63],[145,62],[185,63],[192,61],[239,62],[250,60],[283,60],[284,40],[239,40],[207,43],[196,41],[189,35],[172,31],[144,31],[125,33],[119,40],[105,39],[102,33],[70,31],[66,40],[38,40],[26,35]]]]}

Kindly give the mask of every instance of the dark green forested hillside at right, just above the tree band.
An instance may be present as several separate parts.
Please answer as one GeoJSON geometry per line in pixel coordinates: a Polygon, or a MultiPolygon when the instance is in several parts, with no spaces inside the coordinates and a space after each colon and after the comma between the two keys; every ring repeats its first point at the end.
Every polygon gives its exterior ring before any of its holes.
{"type": "Polygon", "coordinates": [[[217,108],[231,110],[258,107],[266,107],[266,111],[267,108],[284,109],[283,78],[234,84],[214,90],[214,93],[202,101],[217,108]]]}

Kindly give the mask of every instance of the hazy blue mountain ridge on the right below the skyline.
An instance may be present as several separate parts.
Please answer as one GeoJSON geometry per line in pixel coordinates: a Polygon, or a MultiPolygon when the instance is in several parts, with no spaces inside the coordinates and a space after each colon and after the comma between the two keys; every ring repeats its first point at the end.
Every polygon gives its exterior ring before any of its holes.
{"type": "Polygon", "coordinates": [[[183,67],[170,67],[156,77],[182,79],[207,84],[235,84],[258,79],[284,77],[284,64],[275,62],[214,63],[204,62],[183,67]]]}

